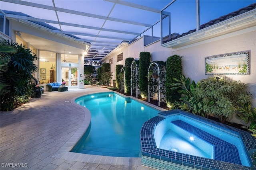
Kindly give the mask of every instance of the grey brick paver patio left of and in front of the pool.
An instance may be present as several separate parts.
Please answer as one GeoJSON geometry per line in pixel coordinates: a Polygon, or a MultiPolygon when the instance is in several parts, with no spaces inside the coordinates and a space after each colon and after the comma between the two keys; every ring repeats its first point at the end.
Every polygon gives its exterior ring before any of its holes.
{"type": "Polygon", "coordinates": [[[66,92],[44,92],[41,98],[31,98],[13,111],[1,112],[0,169],[152,170],[141,166],[140,158],[56,156],[86,120],[84,110],[70,101],[104,91],[109,90],[86,86],[66,92]]]}

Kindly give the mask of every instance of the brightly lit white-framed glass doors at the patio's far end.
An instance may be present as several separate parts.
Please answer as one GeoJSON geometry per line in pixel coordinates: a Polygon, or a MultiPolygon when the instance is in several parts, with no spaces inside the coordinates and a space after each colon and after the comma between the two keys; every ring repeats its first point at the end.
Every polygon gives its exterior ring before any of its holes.
{"type": "Polygon", "coordinates": [[[78,67],[62,67],[62,81],[66,82],[66,87],[78,87],[77,72],[78,67]]]}

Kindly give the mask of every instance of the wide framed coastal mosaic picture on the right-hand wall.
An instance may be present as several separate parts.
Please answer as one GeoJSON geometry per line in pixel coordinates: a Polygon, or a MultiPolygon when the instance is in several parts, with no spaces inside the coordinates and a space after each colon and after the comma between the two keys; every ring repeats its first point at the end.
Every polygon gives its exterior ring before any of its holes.
{"type": "Polygon", "coordinates": [[[249,51],[205,57],[205,74],[249,74],[249,51]]]}

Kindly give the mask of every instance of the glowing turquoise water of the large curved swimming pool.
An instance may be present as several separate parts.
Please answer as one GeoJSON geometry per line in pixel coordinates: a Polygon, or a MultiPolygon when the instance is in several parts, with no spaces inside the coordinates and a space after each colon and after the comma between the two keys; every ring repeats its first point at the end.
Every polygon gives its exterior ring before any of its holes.
{"type": "Polygon", "coordinates": [[[140,157],[140,129],[160,112],[114,92],[75,100],[91,112],[91,124],[72,152],[104,156],[140,157]]]}

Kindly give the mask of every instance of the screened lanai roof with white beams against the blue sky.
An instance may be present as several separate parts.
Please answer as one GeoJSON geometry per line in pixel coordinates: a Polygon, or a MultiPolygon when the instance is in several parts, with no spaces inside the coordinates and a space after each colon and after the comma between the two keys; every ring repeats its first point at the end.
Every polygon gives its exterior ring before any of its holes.
{"type": "MultiPolygon", "coordinates": [[[[54,33],[90,43],[85,60],[100,61],[122,42],[132,42],[145,32],[151,35],[150,28],[160,21],[161,10],[170,2],[172,0],[1,0],[0,8],[27,15],[6,15],[9,19],[47,23],[54,33]]],[[[27,38],[26,41],[35,46],[33,37],[27,38]]],[[[42,46],[35,47],[44,49],[43,43],[40,44],[42,46]]],[[[55,51],[63,53],[65,48],[56,47],[55,51]]]]}

